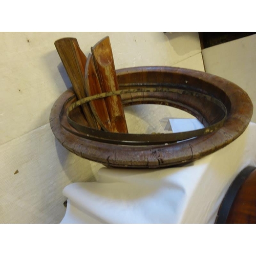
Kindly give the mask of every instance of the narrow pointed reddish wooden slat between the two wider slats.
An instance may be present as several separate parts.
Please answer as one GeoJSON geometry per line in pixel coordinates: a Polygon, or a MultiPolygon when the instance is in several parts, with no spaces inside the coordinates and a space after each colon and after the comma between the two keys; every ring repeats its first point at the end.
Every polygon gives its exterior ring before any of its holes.
{"type": "MultiPolygon", "coordinates": [[[[102,93],[100,83],[94,66],[92,55],[89,54],[86,70],[85,70],[85,89],[87,96],[93,96],[95,94],[102,93]]],[[[91,110],[94,117],[102,127],[104,131],[117,132],[115,127],[112,127],[108,110],[104,99],[97,99],[90,102],[91,110]]]]}

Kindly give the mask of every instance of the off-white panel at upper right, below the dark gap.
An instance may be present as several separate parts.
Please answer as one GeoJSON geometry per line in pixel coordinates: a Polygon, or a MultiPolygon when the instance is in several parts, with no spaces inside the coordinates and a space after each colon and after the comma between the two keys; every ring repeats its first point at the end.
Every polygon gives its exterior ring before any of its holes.
{"type": "MultiPolygon", "coordinates": [[[[236,83],[256,109],[256,34],[203,50],[205,71],[236,83]]],[[[256,111],[251,121],[256,122],[256,111]]]]}

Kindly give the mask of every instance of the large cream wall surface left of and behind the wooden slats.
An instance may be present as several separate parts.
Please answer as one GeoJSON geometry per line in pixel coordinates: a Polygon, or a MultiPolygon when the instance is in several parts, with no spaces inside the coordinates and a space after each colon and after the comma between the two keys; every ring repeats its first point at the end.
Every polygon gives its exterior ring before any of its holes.
{"type": "MultiPolygon", "coordinates": [[[[0,223],[59,223],[65,214],[62,189],[94,179],[101,167],[63,148],[51,132],[49,115],[54,101],[71,87],[54,41],[76,37],[88,55],[106,35],[116,69],[177,66],[204,71],[196,32],[0,33],[0,223]]],[[[148,112],[144,109],[144,117],[148,112]]],[[[130,123],[135,114],[126,112],[130,123]]]]}

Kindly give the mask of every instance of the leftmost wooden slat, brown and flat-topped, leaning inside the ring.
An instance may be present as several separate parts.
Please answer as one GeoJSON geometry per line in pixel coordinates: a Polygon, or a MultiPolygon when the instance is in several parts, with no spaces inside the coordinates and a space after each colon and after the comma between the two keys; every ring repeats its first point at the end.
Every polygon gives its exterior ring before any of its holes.
{"type": "MultiPolygon", "coordinates": [[[[69,37],[61,38],[55,41],[54,45],[68,73],[77,98],[82,99],[86,97],[84,90],[84,68],[87,58],[80,50],[77,39],[69,37]]],[[[99,129],[89,104],[83,104],[82,110],[89,126],[94,129],[99,129]]]]}

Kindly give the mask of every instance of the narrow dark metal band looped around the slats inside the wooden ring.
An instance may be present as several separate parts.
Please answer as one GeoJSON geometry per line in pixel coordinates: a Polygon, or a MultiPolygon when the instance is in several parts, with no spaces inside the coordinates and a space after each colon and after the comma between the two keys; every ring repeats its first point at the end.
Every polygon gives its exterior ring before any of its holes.
{"type": "MultiPolygon", "coordinates": [[[[215,132],[218,129],[220,129],[220,127],[223,125],[223,123],[226,120],[226,108],[225,105],[222,104],[221,101],[219,101],[218,99],[205,95],[205,94],[200,94],[198,92],[189,92],[188,94],[188,90],[180,90],[177,88],[161,88],[160,85],[157,85],[154,88],[143,88],[143,89],[130,89],[130,90],[119,90],[119,91],[113,91],[113,92],[108,92],[108,93],[102,93],[102,94],[97,94],[91,97],[87,97],[84,98],[80,101],[76,101],[73,104],[71,104],[69,106],[68,109],[68,113],[67,113],[67,118],[68,118],[68,122],[75,128],[75,130],[83,133],[83,137],[84,138],[88,138],[88,139],[92,139],[92,140],[96,140],[96,141],[102,141],[102,142],[106,142],[106,143],[111,143],[111,144],[119,144],[119,145],[154,145],[154,144],[165,144],[165,143],[172,143],[172,142],[177,142],[177,141],[181,141],[181,140],[185,140],[185,139],[190,139],[190,138],[194,138],[194,137],[198,137],[198,136],[202,136],[202,135],[206,135],[208,133],[211,132],[215,132]],[[160,92],[160,89],[162,89],[163,91],[160,92]],[[79,123],[75,122],[71,116],[70,116],[70,112],[72,110],[74,110],[75,108],[77,108],[78,106],[80,106],[82,103],[87,102],[88,100],[93,100],[95,98],[98,97],[106,97],[109,95],[123,95],[123,94],[127,94],[128,96],[132,96],[133,93],[138,93],[139,94],[141,92],[145,92],[148,95],[148,100],[152,100],[152,102],[155,101],[155,97],[154,97],[154,92],[155,93],[162,93],[163,99],[162,101],[160,101],[160,103],[164,103],[165,100],[166,102],[168,102],[169,98],[167,97],[168,95],[172,95],[175,93],[179,93],[180,95],[182,95],[182,97],[184,97],[184,93],[186,92],[186,95],[189,96],[196,96],[196,101],[194,99],[193,103],[197,103],[200,100],[204,100],[207,98],[207,100],[209,102],[206,102],[206,104],[208,103],[215,103],[217,104],[217,106],[220,108],[220,113],[218,113],[219,115],[216,117],[216,120],[214,123],[211,123],[210,126],[204,127],[203,129],[199,129],[199,130],[194,130],[194,131],[188,131],[188,132],[182,132],[182,133],[169,133],[169,134],[123,134],[123,133],[110,133],[110,132],[106,132],[106,131],[97,131],[94,129],[91,129],[88,126],[85,125],[80,125],[79,123]],[[166,98],[165,98],[166,96],[166,98]]],[[[131,102],[132,104],[136,103],[133,101],[133,98],[131,97],[131,102]]],[[[156,103],[156,102],[154,102],[156,103]]],[[[189,107],[191,109],[195,108],[195,105],[189,105],[189,107]]],[[[214,108],[214,112],[216,111],[216,107],[214,108]]],[[[66,114],[66,113],[65,113],[66,114]]],[[[204,116],[202,114],[202,116],[204,116]]]]}

